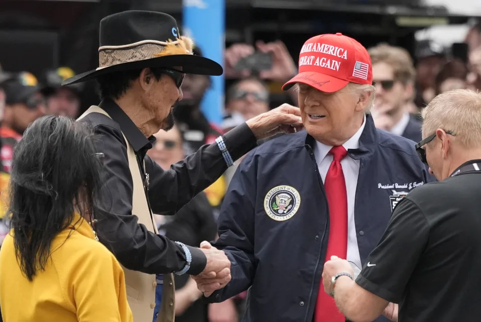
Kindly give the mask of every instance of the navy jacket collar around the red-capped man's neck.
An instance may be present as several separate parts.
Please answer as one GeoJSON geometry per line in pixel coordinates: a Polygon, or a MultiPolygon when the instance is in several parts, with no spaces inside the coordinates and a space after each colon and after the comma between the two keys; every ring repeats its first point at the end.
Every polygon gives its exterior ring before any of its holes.
{"type": "MultiPolygon", "coordinates": [[[[304,132],[304,143],[314,148],[316,145],[316,140],[306,131],[304,132]]],[[[353,159],[360,159],[365,157],[370,157],[377,146],[378,134],[377,129],[374,126],[374,121],[371,114],[366,114],[366,119],[364,121],[364,129],[359,136],[359,146],[357,148],[349,148],[348,154],[353,159]]]]}

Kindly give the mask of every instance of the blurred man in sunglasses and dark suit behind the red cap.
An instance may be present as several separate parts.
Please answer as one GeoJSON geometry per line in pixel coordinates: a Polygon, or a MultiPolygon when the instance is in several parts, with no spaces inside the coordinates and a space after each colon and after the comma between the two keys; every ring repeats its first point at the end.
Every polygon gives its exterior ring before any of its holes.
{"type": "Polygon", "coordinates": [[[377,128],[414,142],[421,140],[421,121],[409,114],[416,75],[409,53],[381,44],[369,50],[376,100],[372,115],[377,128]]]}

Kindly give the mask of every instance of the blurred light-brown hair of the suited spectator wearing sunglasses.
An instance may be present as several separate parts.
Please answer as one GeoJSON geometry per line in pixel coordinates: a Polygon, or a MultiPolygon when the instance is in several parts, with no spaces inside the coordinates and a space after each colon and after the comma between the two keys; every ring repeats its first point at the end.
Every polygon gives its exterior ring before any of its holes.
{"type": "Polygon", "coordinates": [[[371,56],[371,64],[386,63],[392,67],[394,80],[403,84],[413,82],[416,70],[409,52],[401,47],[380,44],[368,50],[371,56]]]}

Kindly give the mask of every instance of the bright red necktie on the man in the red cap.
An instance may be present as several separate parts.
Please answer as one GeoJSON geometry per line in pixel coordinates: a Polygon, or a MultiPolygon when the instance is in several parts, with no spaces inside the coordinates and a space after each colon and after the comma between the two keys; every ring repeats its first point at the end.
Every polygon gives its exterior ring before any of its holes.
{"type": "MultiPolygon", "coordinates": [[[[327,241],[326,261],[335,255],[346,259],[347,254],[347,193],[341,160],[347,155],[346,149],[334,146],[329,154],[333,156],[326,175],[324,187],[329,205],[329,239],[327,241]]],[[[314,322],[344,322],[346,318],[336,306],[334,298],[319,286],[319,294],[314,311],[314,322]]]]}

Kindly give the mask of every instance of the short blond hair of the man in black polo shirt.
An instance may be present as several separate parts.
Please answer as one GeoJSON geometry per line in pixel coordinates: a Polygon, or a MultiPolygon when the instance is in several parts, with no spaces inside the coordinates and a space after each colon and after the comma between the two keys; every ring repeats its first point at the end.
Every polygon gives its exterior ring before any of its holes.
{"type": "Polygon", "coordinates": [[[452,131],[465,148],[481,146],[481,93],[455,89],[435,96],[422,110],[422,137],[452,131]]]}

